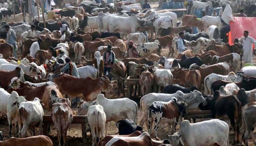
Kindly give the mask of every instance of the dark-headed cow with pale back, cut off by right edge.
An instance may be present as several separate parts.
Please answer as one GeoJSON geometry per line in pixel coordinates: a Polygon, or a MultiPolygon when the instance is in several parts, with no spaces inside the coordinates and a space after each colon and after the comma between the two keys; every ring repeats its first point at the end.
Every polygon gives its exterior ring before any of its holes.
{"type": "Polygon", "coordinates": [[[241,101],[241,105],[244,106],[247,103],[256,101],[255,93],[256,89],[245,91],[245,89],[242,88],[237,92],[237,98],[241,101]]]}

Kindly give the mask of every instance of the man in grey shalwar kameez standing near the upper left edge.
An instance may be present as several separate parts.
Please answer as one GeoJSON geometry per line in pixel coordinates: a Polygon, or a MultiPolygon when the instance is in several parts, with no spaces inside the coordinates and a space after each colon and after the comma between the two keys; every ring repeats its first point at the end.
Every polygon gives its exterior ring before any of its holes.
{"type": "Polygon", "coordinates": [[[15,31],[10,28],[8,24],[5,25],[5,29],[7,30],[7,37],[6,42],[13,46],[13,55],[17,58],[16,51],[17,51],[17,43],[16,43],[16,34],[15,31]]]}

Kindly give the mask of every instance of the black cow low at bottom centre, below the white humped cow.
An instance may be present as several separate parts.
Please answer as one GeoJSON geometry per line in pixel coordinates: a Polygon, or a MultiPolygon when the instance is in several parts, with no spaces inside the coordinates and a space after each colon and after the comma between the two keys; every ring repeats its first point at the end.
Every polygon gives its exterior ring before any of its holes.
{"type": "Polygon", "coordinates": [[[132,134],[134,131],[142,131],[142,127],[137,126],[132,119],[123,119],[116,122],[119,135],[132,134]]]}

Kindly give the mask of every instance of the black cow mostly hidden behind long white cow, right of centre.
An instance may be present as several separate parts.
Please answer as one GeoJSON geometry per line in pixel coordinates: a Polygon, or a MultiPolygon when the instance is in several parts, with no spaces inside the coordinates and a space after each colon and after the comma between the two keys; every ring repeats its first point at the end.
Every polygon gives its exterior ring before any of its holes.
{"type": "Polygon", "coordinates": [[[185,87],[182,87],[178,84],[170,84],[168,86],[166,86],[164,89],[163,89],[163,93],[167,93],[167,94],[174,94],[176,93],[177,91],[181,91],[185,94],[187,93],[190,93],[190,92],[193,92],[194,90],[197,90],[199,91],[196,87],[189,87],[189,88],[185,88],[185,87]]]}

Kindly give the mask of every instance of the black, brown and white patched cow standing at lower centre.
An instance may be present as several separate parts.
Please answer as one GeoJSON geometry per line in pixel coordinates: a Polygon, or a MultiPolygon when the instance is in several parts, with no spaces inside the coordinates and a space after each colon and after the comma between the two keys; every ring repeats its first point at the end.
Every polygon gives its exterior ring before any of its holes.
{"type": "MultiPolygon", "coordinates": [[[[165,123],[173,126],[174,132],[176,132],[177,123],[181,123],[182,118],[186,114],[186,103],[184,101],[178,101],[173,97],[168,102],[155,101],[148,107],[148,133],[151,136],[152,125],[154,126],[154,138],[157,138],[157,130],[159,126],[163,128],[165,123]],[[153,122],[154,121],[154,122],[153,122]],[[160,124],[160,125],[159,125],[160,124]]],[[[171,134],[171,128],[169,129],[171,134]]]]}

